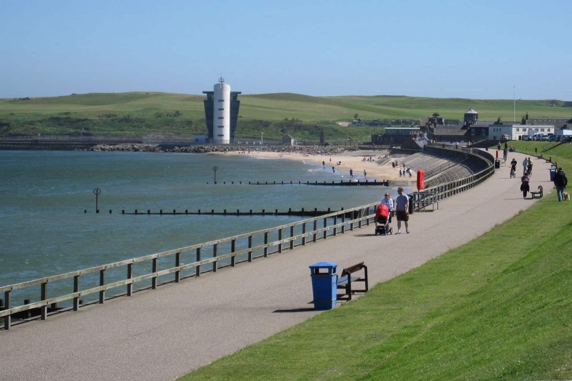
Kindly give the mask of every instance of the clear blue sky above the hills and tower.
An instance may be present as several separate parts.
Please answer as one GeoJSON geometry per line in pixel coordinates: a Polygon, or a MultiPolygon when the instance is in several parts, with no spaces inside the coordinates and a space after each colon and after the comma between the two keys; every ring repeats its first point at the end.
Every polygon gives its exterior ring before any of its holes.
{"type": "Polygon", "coordinates": [[[572,101],[572,1],[0,2],[0,98],[112,91],[572,101]]]}

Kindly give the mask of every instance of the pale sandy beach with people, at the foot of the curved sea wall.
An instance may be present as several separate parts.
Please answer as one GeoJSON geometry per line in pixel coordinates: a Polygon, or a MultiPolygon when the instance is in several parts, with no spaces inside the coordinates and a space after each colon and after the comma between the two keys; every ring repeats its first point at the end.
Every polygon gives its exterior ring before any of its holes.
{"type": "MultiPolygon", "coordinates": [[[[242,152],[242,151],[240,151],[242,152]]],[[[318,164],[324,163],[327,168],[332,168],[336,173],[343,174],[344,177],[349,178],[349,170],[353,170],[353,178],[355,179],[370,179],[382,181],[388,180],[399,180],[399,167],[393,167],[391,165],[392,161],[397,161],[400,165],[402,164],[403,158],[407,155],[390,155],[386,158],[388,154],[387,151],[345,151],[343,153],[338,153],[335,155],[311,155],[303,153],[290,153],[290,152],[260,152],[260,151],[244,151],[244,153],[239,153],[239,151],[231,151],[227,153],[216,153],[216,154],[226,154],[226,155],[249,155],[251,157],[259,158],[284,158],[289,160],[297,160],[303,162],[314,162],[318,164]],[[364,161],[366,158],[366,161],[364,161]],[[368,161],[371,158],[371,161],[368,161]],[[364,176],[364,170],[366,174],[364,176]]],[[[402,180],[406,180],[402,178],[402,180]]],[[[408,179],[412,182],[415,181],[414,177],[408,179]]]]}

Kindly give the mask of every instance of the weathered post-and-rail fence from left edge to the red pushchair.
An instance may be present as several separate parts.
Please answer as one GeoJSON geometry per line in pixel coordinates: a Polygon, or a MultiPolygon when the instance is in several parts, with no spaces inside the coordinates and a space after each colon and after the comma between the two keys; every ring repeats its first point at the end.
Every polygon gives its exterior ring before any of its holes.
{"type": "MultiPolygon", "coordinates": [[[[133,284],[142,282],[144,280],[151,281],[151,288],[157,288],[159,278],[166,282],[179,282],[181,273],[185,270],[192,270],[193,274],[185,276],[200,276],[202,272],[213,271],[216,272],[221,267],[234,267],[235,264],[240,262],[251,262],[255,258],[267,257],[270,254],[280,253],[285,248],[292,250],[295,243],[304,246],[308,239],[316,242],[317,239],[326,239],[328,236],[337,235],[338,232],[344,233],[345,230],[350,231],[357,225],[359,228],[362,224],[367,225],[373,222],[376,203],[367,204],[347,210],[340,210],[331,212],[326,215],[304,219],[298,222],[283,224],[277,227],[267,228],[245,234],[235,235],[223,239],[212,240],[209,242],[194,244],[176,248],[174,250],[158,252],[156,254],[146,255],[139,258],[132,258],[122,260],[120,262],[108,263],[102,266],[84,268],[65,274],[54,276],[47,276],[41,279],[30,280],[9,286],[0,287],[0,293],[4,292],[4,309],[0,311],[0,318],[4,319],[4,329],[9,330],[11,326],[11,316],[23,311],[30,311],[35,308],[40,309],[40,316],[42,320],[47,317],[47,308],[50,304],[72,300],[72,310],[77,311],[80,306],[80,298],[85,295],[98,294],[99,303],[104,303],[106,299],[106,291],[117,287],[126,287],[125,292],[118,295],[131,296],[133,294],[133,284]],[[298,230],[296,232],[296,230],[298,230]],[[288,235],[284,237],[284,235],[288,235]],[[272,237],[277,237],[271,241],[272,237]],[[260,244],[253,244],[253,241],[259,240],[260,244]],[[221,254],[221,246],[229,244],[227,251],[221,254]],[[237,250],[237,247],[239,248],[237,250]],[[208,250],[205,250],[208,249],[208,250]],[[206,252],[209,252],[210,258],[204,258],[206,252]],[[256,252],[259,255],[256,256],[256,252]],[[172,267],[164,270],[158,270],[158,260],[162,258],[170,258],[173,264],[172,267]],[[191,259],[192,262],[182,264],[182,260],[191,259]],[[194,260],[193,260],[194,259],[194,260]],[[237,259],[239,262],[237,262],[237,259]],[[242,260],[241,260],[242,259],[242,260]],[[150,272],[134,276],[134,264],[147,263],[150,272]],[[207,266],[210,265],[210,266],[207,266]],[[210,270],[205,270],[204,267],[210,267],[210,270]],[[112,268],[124,267],[125,279],[116,282],[106,282],[106,271],[112,268]],[[80,279],[81,276],[87,274],[94,274],[99,272],[99,285],[97,287],[87,288],[81,290],[80,279]],[[174,276],[168,279],[167,275],[174,276]],[[48,298],[48,284],[56,280],[69,280],[73,282],[73,292],[65,295],[58,295],[48,298]],[[21,306],[13,307],[11,305],[11,292],[20,290],[27,287],[39,286],[39,301],[23,304],[21,306]]],[[[113,295],[117,296],[117,295],[113,295]]]]}

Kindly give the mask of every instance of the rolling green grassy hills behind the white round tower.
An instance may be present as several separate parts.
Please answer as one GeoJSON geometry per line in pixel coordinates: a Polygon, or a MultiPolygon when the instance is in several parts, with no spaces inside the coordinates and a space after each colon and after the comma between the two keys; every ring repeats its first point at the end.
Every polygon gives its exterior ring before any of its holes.
{"type": "MultiPolygon", "coordinates": [[[[72,94],[65,97],[0,99],[0,135],[80,134],[145,135],[204,134],[202,95],[168,93],[72,94]]],[[[380,127],[340,127],[337,121],[362,119],[425,119],[438,111],[459,120],[469,107],[479,119],[513,119],[512,100],[394,97],[309,97],[300,94],[240,95],[237,137],[281,139],[292,133],[299,140],[317,140],[324,129],[327,139],[369,140],[380,127]],[[285,123],[285,119],[288,122],[285,123]],[[293,120],[292,120],[293,119],[293,120]]],[[[517,101],[517,119],[570,118],[572,109],[550,107],[553,100],[517,101]]]]}

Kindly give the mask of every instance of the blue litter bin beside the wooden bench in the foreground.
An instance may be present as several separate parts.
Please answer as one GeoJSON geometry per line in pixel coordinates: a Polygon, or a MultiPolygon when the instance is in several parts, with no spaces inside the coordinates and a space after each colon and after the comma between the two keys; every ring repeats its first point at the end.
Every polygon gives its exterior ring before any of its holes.
{"type": "Polygon", "coordinates": [[[314,309],[331,310],[336,308],[337,263],[318,262],[309,267],[312,276],[314,309]]]}

